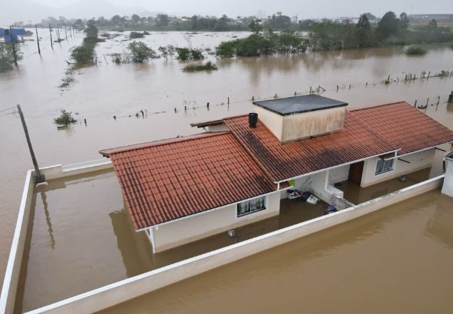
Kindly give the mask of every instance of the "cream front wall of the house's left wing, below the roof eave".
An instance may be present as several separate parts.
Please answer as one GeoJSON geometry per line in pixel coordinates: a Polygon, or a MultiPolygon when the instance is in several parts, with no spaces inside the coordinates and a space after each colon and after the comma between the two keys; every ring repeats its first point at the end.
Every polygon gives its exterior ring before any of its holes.
{"type": "MultiPolygon", "coordinates": [[[[282,192],[286,193],[286,192],[282,192]]],[[[160,225],[154,230],[156,252],[279,214],[280,192],[268,195],[266,210],[236,218],[236,204],[160,225]]]]}

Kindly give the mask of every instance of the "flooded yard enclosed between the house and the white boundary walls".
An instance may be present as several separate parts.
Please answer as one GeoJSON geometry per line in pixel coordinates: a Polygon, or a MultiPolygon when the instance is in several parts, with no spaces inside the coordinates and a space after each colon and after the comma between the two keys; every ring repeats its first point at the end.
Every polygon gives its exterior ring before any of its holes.
{"type": "Polygon", "coordinates": [[[285,199],[278,216],[238,227],[237,237],[222,232],[153,254],[125,212],[112,171],[49,181],[34,203],[17,313],[323,216],[328,206],[285,199]]]}

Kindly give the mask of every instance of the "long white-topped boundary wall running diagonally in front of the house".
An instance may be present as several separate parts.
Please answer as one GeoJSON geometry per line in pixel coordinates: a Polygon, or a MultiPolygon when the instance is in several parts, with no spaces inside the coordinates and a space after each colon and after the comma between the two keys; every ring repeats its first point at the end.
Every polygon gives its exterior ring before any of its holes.
{"type": "MultiPolygon", "coordinates": [[[[182,281],[183,279],[201,274],[204,271],[215,269],[216,267],[220,267],[224,264],[240,260],[243,257],[247,257],[249,255],[265,251],[269,248],[285,244],[300,237],[305,237],[308,234],[324,230],[328,227],[339,225],[340,223],[353,220],[383,207],[387,207],[391,204],[407,200],[408,198],[415,195],[419,195],[429,190],[439,188],[443,184],[444,177],[445,175],[441,175],[439,177],[421,182],[420,184],[415,184],[408,188],[397,190],[394,193],[390,193],[382,197],[378,197],[374,200],[364,202],[355,207],[337,211],[336,213],[326,216],[314,218],[312,220],[298,223],[297,225],[292,225],[290,227],[276,230],[268,234],[263,234],[259,237],[220,248],[209,253],[198,255],[196,257],[192,257],[190,259],[183,260],[181,262],[177,262],[160,269],[148,271],[145,274],[128,278],[123,281],[118,281],[111,285],[106,285],[96,290],[79,294],[75,297],[50,304],[49,306],[45,306],[43,308],[38,308],[34,311],[29,312],[29,314],[92,313],[95,311],[100,311],[104,308],[114,306],[123,301],[139,297],[141,294],[146,294],[161,287],[170,285],[171,283],[176,283],[178,281],[182,281]]],[[[21,213],[23,214],[23,211],[21,211],[21,213]]],[[[20,217],[17,225],[20,231],[21,225],[19,223],[23,225],[22,217],[20,217]]],[[[17,252],[18,250],[17,242],[13,242],[13,244],[15,244],[16,247],[13,247],[12,254],[13,252],[17,252]]],[[[16,266],[20,267],[20,265],[16,266]]],[[[12,270],[10,263],[8,263],[8,270],[12,270]]],[[[8,278],[11,278],[10,274],[8,276],[8,278]]],[[[17,282],[15,283],[15,287],[16,286],[17,282]]],[[[3,289],[4,288],[5,286],[3,285],[3,289]]],[[[15,290],[11,290],[11,292],[15,294],[15,290]]],[[[8,294],[6,294],[6,297],[8,297],[8,294]]],[[[5,308],[5,304],[6,300],[3,300],[2,292],[1,305],[3,309],[5,308]]],[[[6,313],[11,313],[11,311],[9,311],[10,307],[8,307],[7,309],[8,311],[6,313]]]]}

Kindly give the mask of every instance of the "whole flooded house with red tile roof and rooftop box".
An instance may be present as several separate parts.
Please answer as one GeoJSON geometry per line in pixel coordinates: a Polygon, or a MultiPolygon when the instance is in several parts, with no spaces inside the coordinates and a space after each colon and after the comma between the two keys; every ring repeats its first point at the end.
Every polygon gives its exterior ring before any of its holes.
{"type": "Polygon", "coordinates": [[[350,180],[371,186],[431,167],[453,132],[407,103],[346,110],[317,95],[263,100],[254,113],[193,124],[207,133],[105,149],[127,210],[153,251],[279,214],[310,181],[325,202],[350,180]],[[291,185],[290,185],[291,184],[291,185]]]}

